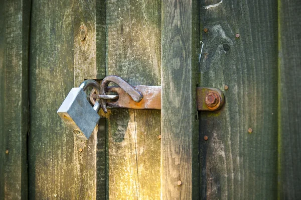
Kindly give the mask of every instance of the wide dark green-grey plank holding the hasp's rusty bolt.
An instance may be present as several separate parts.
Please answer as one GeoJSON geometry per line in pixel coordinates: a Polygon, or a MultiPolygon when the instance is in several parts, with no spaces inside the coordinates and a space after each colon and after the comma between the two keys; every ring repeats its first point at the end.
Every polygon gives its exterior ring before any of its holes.
{"type": "Polygon", "coordinates": [[[200,198],[276,199],[277,2],[207,3],[200,86],[222,89],[226,103],[200,113],[200,198]]]}

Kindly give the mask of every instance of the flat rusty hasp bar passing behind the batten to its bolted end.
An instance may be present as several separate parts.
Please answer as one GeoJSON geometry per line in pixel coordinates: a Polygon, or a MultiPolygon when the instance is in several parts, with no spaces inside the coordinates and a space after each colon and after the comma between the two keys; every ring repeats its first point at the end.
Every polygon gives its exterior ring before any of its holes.
{"type": "MultiPolygon", "coordinates": [[[[137,85],[131,87],[139,91],[143,96],[139,102],[134,101],[131,95],[129,95],[123,88],[115,86],[107,87],[106,90],[108,92],[115,92],[118,95],[91,94],[91,97],[94,99],[110,99],[110,101],[103,100],[109,108],[161,110],[161,86],[137,85]],[[114,99],[117,100],[114,101],[114,99]]],[[[224,102],[224,94],[220,89],[197,87],[198,111],[219,110],[223,106],[224,102]]]]}

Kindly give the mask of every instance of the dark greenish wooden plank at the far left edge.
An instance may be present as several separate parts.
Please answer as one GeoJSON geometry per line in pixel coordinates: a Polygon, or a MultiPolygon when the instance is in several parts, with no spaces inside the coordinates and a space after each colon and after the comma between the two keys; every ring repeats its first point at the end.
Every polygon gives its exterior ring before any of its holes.
{"type": "Polygon", "coordinates": [[[30,4],[2,1],[0,8],[1,199],[27,199],[30,4]]]}

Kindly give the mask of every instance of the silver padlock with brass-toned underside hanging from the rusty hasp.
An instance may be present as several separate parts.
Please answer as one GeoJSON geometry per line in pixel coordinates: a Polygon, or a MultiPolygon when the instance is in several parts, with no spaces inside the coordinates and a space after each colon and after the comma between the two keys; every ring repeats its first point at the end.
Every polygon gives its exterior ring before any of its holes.
{"type": "Polygon", "coordinates": [[[99,99],[95,101],[94,107],[87,100],[85,89],[89,86],[93,86],[99,94],[100,85],[95,80],[85,80],[79,87],[71,89],[57,111],[79,140],[88,140],[100,119],[97,113],[100,108],[99,99]]]}

